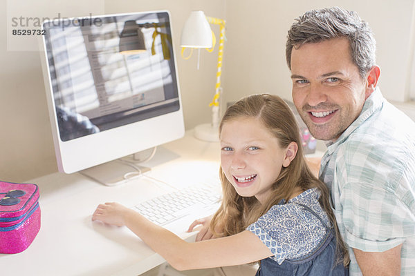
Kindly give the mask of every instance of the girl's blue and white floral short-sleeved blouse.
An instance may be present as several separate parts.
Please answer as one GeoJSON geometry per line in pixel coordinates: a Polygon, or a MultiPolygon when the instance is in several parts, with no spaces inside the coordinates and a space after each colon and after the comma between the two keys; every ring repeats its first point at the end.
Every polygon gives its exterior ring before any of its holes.
{"type": "Polygon", "coordinates": [[[285,259],[298,259],[311,253],[326,234],[322,221],[300,204],[308,206],[319,215],[327,226],[329,218],[320,206],[320,190],[311,188],[288,200],[282,200],[248,226],[246,230],[261,239],[274,254],[271,258],[278,264],[285,259]]]}

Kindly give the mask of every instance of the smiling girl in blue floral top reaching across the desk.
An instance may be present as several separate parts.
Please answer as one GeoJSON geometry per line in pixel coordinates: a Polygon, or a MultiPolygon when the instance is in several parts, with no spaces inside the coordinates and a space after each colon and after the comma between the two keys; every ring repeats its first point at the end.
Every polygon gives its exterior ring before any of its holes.
{"type": "Polygon", "coordinates": [[[328,190],[306,166],[286,103],[273,95],[241,99],[219,131],[223,202],[211,222],[219,238],[184,242],[116,203],[98,206],[93,220],[127,226],[178,270],[261,260],[261,276],[348,275],[328,190]]]}

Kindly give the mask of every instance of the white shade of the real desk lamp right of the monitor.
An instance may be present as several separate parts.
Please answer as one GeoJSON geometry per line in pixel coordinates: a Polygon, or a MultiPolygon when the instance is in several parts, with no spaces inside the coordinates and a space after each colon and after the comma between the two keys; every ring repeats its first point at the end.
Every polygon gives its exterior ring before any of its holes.
{"type": "Polygon", "coordinates": [[[183,26],[181,46],[187,48],[212,48],[212,30],[205,13],[201,10],[190,13],[183,26]]]}

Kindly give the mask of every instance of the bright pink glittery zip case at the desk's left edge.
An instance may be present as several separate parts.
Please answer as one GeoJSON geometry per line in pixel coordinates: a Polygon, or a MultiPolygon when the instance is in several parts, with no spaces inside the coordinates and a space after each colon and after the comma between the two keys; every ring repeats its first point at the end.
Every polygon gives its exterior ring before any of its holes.
{"type": "Polygon", "coordinates": [[[36,184],[0,181],[0,253],[19,253],[40,229],[39,188],[36,184]]]}

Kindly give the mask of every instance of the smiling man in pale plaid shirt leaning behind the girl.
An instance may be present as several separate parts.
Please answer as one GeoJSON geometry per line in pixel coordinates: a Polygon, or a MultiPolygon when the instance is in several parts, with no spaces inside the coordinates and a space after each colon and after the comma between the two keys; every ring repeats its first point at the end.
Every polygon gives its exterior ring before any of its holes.
{"type": "Polygon", "coordinates": [[[415,124],[382,97],[375,51],[355,12],[306,12],[286,43],[293,101],[326,141],[320,179],[351,275],[415,275],[415,124]]]}

